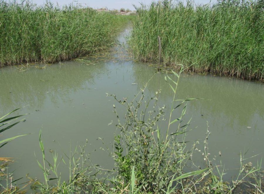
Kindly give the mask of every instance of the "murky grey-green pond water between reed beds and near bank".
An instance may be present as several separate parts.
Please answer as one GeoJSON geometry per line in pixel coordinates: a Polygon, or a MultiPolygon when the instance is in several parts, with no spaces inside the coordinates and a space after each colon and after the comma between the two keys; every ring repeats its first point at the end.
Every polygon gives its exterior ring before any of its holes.
{"type": "MultiPolygon", "coordinates": [[[[116,49],[117,52],[110,54],[108,61],[68,61],[44,69],[26,68],[28,70],[23,72],[16,67],[0,70],[0,115],[20,107],[23,108],[17,114],[30,113],[26,115],[26,122],[5,131],[0,137],[5,139],[30,134],[1,148],[1,157],[16,160],[10,167],[10,170],[15,170],[15,178],[25,177],[26,173],[33,178],[42,178],[35,158],[41,160],[38,143],[41,128],[47,156],[51,156],[49,149],[59,156],[63,153],[70,155],[75,146],[83,145],[88,139],[86,149],[91,152],[90,158],[94,163],[103,168],[113,168],[114,162],[99,149],[102,142],[97,140],[101,137],[109,145],[116,130],[116,116],[112,110],[113,104],[117,103],[113,98],[106,97],[106,93],[132,100],[155,72],[147,64],[127,60],[124,50],[120,47],[116,49]],[[113,124],[108,125],[111,121],[113,124]]],[[[170,107],[173,96],[164,76],[164,73],[156,74],[145,94],[150,97],[161,89],[158,102],[170,107]]],[[[189,129],[196,128],[188,133],[186,140],[199,140],[199,149],[202,149],[208,121],[208,130],[211,131],[209,152],[214,156],[221,151],[222,156],[217,157],[216,163],[221,161],[225,169],[231,169],[226,178],[236,174],[235,169],[240,166],[240,152],[247,151],[245,158],[259,154],[248,160],[254,165],[261,159],[264,148],[263,84],[228,77],[183,75],[177,98],[187,97],[204,99],[188,103],[185,120],[192,117],[189,129]]],[[[125,110],[117,108],[121,117],[125,110]]],[[[165,122],[161,124],[165,125],[165,122]]],[[[201,154],[195,156],[197,164],[202,166],[204,160],[201,154]]],[[[67,166],[61,163],[60,168],[62,177],[67,180],[67,166]]],[[[21,182],[26,181],[24,178],[21,182]]]]}

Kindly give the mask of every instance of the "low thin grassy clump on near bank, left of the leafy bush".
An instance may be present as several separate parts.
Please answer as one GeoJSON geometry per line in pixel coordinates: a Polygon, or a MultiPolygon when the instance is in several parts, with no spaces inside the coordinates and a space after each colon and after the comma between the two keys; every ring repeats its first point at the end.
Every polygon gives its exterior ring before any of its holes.
{"type": "MultiPolygon", "coordinates": [[[[86,140],[87,144],[88,140],[86,140]]],[[[89,154],[85,153],[85,146],[75,147],[73,154],[64,153],[66,158],[58,160],[58,154],[52,151],[52,160],[48,161],[45,155],[45,148],[42,141],[42,130],[39,132],[39,146],[42,152],[42,162],[37,160],[38,166],[43,172],[44,182],[38,179],[33,179],[29,176],[27,178],[31,184],[31,189],[35,192],[41,193],[82,193],[92,192],[96,179],[94,176],[98,173],[96,166],[89,162],[89,154]],[[68,161],[68,162],[67,162],[68,161]],[[66,163],[67,162],[67,163],[66,163]],[[58,167],[64,163],[69,168],[69,179],[61,180],[61,174],[58,167]],[[54,180],[57,180],[57,182],[54,180]]]]}

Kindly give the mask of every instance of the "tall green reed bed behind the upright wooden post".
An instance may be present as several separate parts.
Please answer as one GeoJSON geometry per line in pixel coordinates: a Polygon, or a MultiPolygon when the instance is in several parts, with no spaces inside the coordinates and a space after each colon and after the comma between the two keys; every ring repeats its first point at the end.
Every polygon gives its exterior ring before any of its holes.
{"type": "Polygon", "coordinates": [[[153,2],[136,8],[130,40],[135,57],[248,80],[264,78],[264,1],[153,2]]]}

